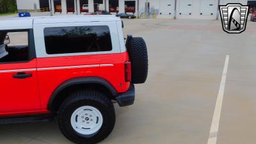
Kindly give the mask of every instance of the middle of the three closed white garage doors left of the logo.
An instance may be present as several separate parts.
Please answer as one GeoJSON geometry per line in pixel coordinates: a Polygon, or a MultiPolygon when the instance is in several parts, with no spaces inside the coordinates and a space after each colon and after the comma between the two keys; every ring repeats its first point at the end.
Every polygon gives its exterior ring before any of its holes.
{"type": "Polygon", "coordinates": [[[192,15],[193,0],[180,0],[180,15],[192,15]]]}

